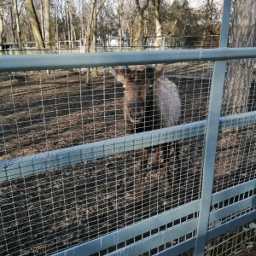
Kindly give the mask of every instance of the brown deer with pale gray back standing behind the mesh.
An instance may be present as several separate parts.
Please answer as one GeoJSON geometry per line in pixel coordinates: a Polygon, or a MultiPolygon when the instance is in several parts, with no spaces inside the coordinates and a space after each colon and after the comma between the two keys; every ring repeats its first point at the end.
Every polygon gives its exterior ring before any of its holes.
{"type": "MultiPolygon", "coordinates": [[[[131,70],[130,67],[113,68],[116,80],[123,84],[124,118],[126,132],[138,133],[178,125],[181,115],[181,101],[176,84],[162,77],[164,64],[155,67],[146,66],[143,70],[131,70]]],[[[157,145],[155,160],[160,165],[160,150],[163,152],[163,165],[167,166],[170,157],[170,143],[157,145]]],[[[179,147],[174,142],[177,162],[179,147]]],[[[143,170],[148,166],[148,154],[151,148],[138,149],[140,172],[138,177],[137,201],[142,200],[143,170]]],[[[166,168],[167,170],[167,168],[166,168]]],[[[171,173],[167,172],[167,182],[171,183],[171,173]]]]}

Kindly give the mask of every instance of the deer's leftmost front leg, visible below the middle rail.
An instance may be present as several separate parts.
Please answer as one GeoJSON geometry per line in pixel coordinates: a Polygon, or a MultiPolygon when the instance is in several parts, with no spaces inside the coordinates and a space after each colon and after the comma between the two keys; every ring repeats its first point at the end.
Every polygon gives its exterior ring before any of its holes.
{"type": "Polygon", "coordinates": [[[140,173],[138,177],[137,185],[137,201],[142,201],[143,198],[143,177],[148,165],[148,148],[140,148],[138,150],[140,160],[140,173]]]}

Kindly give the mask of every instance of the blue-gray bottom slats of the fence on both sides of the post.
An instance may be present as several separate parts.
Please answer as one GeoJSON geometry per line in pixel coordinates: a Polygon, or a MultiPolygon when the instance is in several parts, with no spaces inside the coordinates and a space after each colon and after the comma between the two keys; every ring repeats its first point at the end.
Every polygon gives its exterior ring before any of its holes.
{"type": "MultiPolygon", "coordinates": [[[[256,180],[252,180],[247,183],[237,185],[236,189],[234,188],[225,189],[223,191],[213,194],[212,201],[214,203],[217,203],[219,201],[225,201],[230,199],[231,197],[235,197],[236,195],[241,195],[242,193],[255,189],[255,187],[256,187],[256,180]]],[[[214,205],[214,203],[212,203],[212,206],[214,205]]],[[[127,226],[124,229],[120,229],[106,236],[101,236],[95,240],[88,241],[76,247],[71,247],[65,250],[64,252],[55,253],[54,255],[55,256],[64,256],[64,255],[65,256],[73,256],[73,255],[82,256],[82,255],[90,255],[92,253],[96,253],[99,250],[104,250],[108,247],[113,246],[114,244],[119,244],[121,242],[128,241],[129,239],[135,236],[146,233],[147,231],[153,230],[156,227],[160,227],[163,224],[171,223],[176,219],[180,219],[185,216],[188,216],[189,214],[197,212],[199,210],[200,204],[201,204],[200,200],[190,202],[188,204],[183,205],[182,207],[177,207],[172,210],[163,212],[152,218],[147,218],[137,224],[127,226]]],[[[239,204],[244,204],[243,207],[248,207],[253,204],[255,205],[255,195],[250,198],[247,198],[245,202],[240,201],[239,204]]],[[[240,208],[238,208],[236,211],[236,206],[233,207],[232,213],[239,212],[240,208]]],[[[212,222],[215,220],[218,220],[219,219],[218,216],[223,216],[224,213],[226,213],[225,211],[226,211],[226,207],[223,207],[219,209],[217,213],[211,212],[210,216],[211,216],[212,222]],[[215,217],[214,215],[218,215],[218,216],[215,217]]],[[[230,213],[228,214],[230,215],[230,213]]],[[[246,215],[242,215],[240,218],[231,220],[230,222],[228,222],[228,224],[221,225],[217,223],[216,226],[213,225],[211,230],[207,230],[205,234],[205,236],[207,236],[207,241],[209,241],[210,239],[216,236],[224,234],[224,232],[234,229],[241,224],[245,224],[249,221],[253,221],[253,219],[255,218],[256,218],[256,211],[253,211],[253,212],[247,213],[246,215]]],[[[189,232],[195,230],[196,224],[198,224],[197,219],[193,219],[192,221],[187,221],[185,224],[182,225],[182,227],[180,227],[180,225],[178,224],[177,226],[174,226],[171,229],[160,232],[160,234],[158,235],[161,237],[168,237],[169,241],[172,241],[172,239],[174,240],[181,236],[185,236],[189,232]],[[170,232],[170,234],[168,234],[168,232],[170,232]]],[[[149,242],[149,244],[151,245],[151,241],[149,242]]],[[[157,244],[154,243],[154,247],[161,246],[162,244],[164,244],[164,242],[158,241],[157,244]]],[[[196,244],[196,237],[192,237],[191,239],[183,241],[177,244],[176,246],[168,248],[166,251],[160,252],[159,255],[177,255],[179,253],[183,253],[195,247],[195,244],[196,244]]],[[[143,241],[138,241],[132,244],[132,253],[130,254],[129,252],[131,252],[131,247],[128,247],[128,248],[119,249],[118,251],[110,255],[137,255],[137,254],[148,252],[148,248],[149,248],[149,245],[147,244],[147,241],[143,240],[143,241]],[[135,246],[137,243],[139,244],[138,247],[135,246]],[[140,247],[141,244],[143,244],[143,247],[140,247]]]]}

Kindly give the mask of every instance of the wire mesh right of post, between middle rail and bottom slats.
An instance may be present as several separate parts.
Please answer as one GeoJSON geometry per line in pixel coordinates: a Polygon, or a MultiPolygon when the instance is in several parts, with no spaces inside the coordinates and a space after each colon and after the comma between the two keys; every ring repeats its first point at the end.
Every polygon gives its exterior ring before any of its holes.
{"type": "Polygon", "coordinates": [[[255,125],[224,131],[218,137],[214,190],[255,178],[255,125]]]}

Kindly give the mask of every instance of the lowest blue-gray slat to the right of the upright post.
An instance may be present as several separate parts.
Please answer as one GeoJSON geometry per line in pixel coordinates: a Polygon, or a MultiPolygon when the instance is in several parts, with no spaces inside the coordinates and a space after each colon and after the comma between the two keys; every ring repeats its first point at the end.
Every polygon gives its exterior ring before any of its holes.
{"type": "Polygon", "coordinates": [[[219,224],[215,228],[207,231],[207,241],[217,236],[220,236],[230,230],[234,230],[237,227],[243,226],[244,224],[247,224],[251,221],[254,221],[255,219],[256,219],[256,211],[254,210],[252,212],[247,212],[239,217],[231,219],[230,221],[224,224],[219,224]]]}

